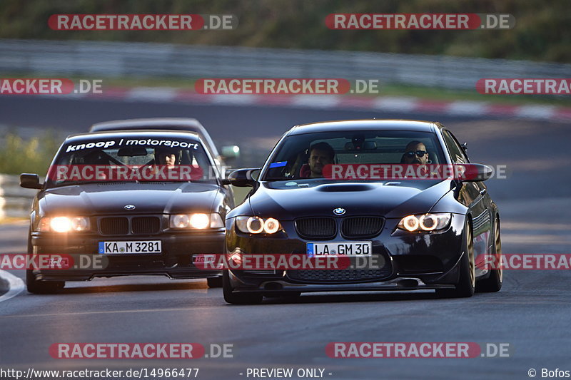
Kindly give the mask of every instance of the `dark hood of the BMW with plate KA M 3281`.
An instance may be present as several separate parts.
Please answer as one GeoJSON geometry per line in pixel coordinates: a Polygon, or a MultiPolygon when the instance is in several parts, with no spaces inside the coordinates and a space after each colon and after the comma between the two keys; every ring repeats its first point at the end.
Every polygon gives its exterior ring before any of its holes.
{"type": "Polygon", "coordinates": [[[94,183],[45,190],[39,203],[44,215],[211,212],[217,193],[206,183],[94,183]]]}

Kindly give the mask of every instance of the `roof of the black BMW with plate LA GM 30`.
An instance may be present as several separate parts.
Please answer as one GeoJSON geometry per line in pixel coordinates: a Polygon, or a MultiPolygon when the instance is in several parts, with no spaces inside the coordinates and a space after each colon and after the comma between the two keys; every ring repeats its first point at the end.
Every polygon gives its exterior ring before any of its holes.
{"type": "Polygon", "coordinates": [[[435,128],[443,128],[440,123],[422,120],[333,120],[320,123],[295,125],[287,135],[301,135],[303,133],[331,132],[335,130],[414,130],[418,132],[434,132],[435,128]]]}

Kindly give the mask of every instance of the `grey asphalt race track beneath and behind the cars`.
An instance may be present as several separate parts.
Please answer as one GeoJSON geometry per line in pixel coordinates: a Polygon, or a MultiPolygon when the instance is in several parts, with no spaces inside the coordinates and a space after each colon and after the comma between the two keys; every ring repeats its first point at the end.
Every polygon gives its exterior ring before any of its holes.
{"type": "MultiPolygon", "coordinates": [[[[1,98],[0,124],[85,130],[115,118],[192,116],[220,142],[267,152],[295,123],[338,118],[439,120],[468,141],[474,163],[507,165],[490,180],[504,253],[571,253],[571,173],[565,123],[370,111],[1,98]],[[269,145],[269,146],[268,146],[269,145]]],[[[260,163],[261,164],[261,163],[260,163]]],[[[0,225],[0,253],[26,250],[25,222],[0,225]]],[[[23,278],[24,271],[11,271],[23,278]]],[[[199,368],[199,379],[247,379],[248,368],[320,368],[325,379],[529,379],[571,370],[571,274],[505,272],[498,293],[436,299],[430,292],[309,294],[231,306],[206,281],[125,277],[68,282],[61,294],[25,291],[0,301],[0,366],[28,369],[199,368]],[[233,358],[189,361],[53,359],[56,342],[233,344],[233,358]],[[509,357],[332,359],[329,342],[507,343],[509,357]]],[[[207,351],[208,353],[208,351],[207,351]]]]}

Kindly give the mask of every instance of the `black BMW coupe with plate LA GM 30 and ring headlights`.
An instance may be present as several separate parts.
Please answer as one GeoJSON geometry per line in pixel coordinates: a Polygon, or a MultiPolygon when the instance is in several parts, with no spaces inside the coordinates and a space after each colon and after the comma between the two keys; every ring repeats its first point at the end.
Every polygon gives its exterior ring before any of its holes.
{"type": "Polygon", "coordinates": [[[238,261],[246,255],[338,255],[352,265],[230,267],[223,273],[226,302],[326,291],[497,292],[502,270],[478,265],[485,255],[501,254],[500,214],[482,182],[492,170],[470,164],[465,150],[433,122],[345,120],[291,128],[261,170],[229,176],[233,185],[252,190],[226,215],[226,255],[238,261]],[[357,177],[331,175],[333,167],[355,165],[357,177]],[[471,165],[476,171],[470,177],[365,175],[375,165],[471,165]],[[359,256],[376,264],[353,265],[359,256]]]}

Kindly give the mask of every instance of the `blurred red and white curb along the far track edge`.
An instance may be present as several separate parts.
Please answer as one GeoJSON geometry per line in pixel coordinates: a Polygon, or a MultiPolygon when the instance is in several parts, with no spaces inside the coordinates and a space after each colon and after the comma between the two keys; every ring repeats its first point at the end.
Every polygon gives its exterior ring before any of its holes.
{"type": "Polygon", "coordinates": [[[103,88],[99,94],[46,95],[51,98],[104,98],[122,101],[218,104],[225,106],[282,106],[295,108],[434,113],[453,116],[489,116],[570,121],[571,107],[479,101],[433,101],[424,98],[352,95],[203,95],[170,87],[103,88]]]}

